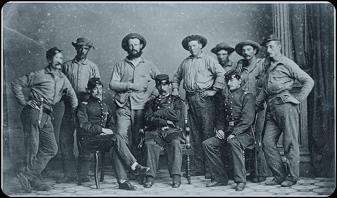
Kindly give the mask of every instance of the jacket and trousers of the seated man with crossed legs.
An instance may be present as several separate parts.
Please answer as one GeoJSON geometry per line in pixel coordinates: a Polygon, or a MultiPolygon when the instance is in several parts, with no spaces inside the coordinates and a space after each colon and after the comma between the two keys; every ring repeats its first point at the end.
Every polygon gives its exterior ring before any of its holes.
{"type": "Polygon", "coordinates": [[[91,149],[109,151],[113,148],[112,163],[116,179],[117,181],[127,179],[124,167],[131,167],[136,160],[126,142],[118,134],[100,135],[102,128],[116,131],[110,107],[100,99],[90,97],[78,104],[77,116],[78,146],[83,149],[83,152],[91,149]]]}

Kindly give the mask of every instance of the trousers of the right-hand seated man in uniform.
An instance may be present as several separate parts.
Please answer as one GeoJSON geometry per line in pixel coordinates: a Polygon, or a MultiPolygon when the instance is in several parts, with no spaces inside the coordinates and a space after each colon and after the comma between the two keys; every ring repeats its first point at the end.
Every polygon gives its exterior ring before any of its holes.
{"type": "Polygon", "coordinates": [[[212,175],[213,181],[228,181],[228,175],[224,168],[224,163],[221,160],[220,148],[223,147],[224,144],[229,144],[234,166],[234,182],[246,183],[243,148],[252,146],[252,144],[254,144],[254,138],[248,133],[241,133],[240,135],[232,137],[228,142],[226,141],[226,139],[220,140],[217,137],[210,137],[208,140],[202,142],[208,164],[210,165],[210,174],[212,175]]]}

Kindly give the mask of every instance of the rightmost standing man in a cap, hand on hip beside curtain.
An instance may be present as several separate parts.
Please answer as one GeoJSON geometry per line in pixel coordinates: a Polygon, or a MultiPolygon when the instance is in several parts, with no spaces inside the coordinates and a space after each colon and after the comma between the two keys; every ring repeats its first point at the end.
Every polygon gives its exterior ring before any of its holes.
{"type": "Polygon", "coordinates": [[[267,101],[265,115],[266,126],[262,148],[274,178],[267,185],[292,186],[299,179],[300,151],[298,146],[299,105],[307,96],[314,80],[294,61],[281,54],[281,40],[274,34],[263,39],[262,46],[267,47],[270,67],[263,70],[265,89],[260,91],[257,105],[267,101]],[[292,96],[290,90],[294,80],[303,85],[298,96],[292,96]],[[279,137],[283,133],[285,163],[277,148],[279,137]]]}

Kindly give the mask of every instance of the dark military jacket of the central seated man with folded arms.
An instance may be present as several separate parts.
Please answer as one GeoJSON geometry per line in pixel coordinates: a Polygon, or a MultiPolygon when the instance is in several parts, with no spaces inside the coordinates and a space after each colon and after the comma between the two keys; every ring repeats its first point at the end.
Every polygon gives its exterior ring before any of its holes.
{"type": "Polygon", "coordinates": [[[153,139],[163,146],[172,139],[178,139],[184,142],[182,129],[177,126],[183,111],[183,102],[181,98],[171,95],[157,96],[145,104],[145,125],[149,126],[146,130],[144,139],[153,139]],[[174,125],[167,124],[167,120],[174,125]]]}

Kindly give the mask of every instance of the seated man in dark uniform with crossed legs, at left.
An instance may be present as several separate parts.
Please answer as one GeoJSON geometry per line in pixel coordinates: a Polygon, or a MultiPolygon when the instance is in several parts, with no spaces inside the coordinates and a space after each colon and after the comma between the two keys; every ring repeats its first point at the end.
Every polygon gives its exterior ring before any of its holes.
{"type": "Polygon", "coordinates": [[[112,163],[119,188],[136,190],[137,187],[127,181],[125,167],[131,168],[134,174],[144,174],[150,168],[138,164],[130,153],[126,142],[120,135],[113,132],[116,126],[113,122],[111,109],[100,100],[102,88],[100,78],[89,79],[87,84],[89,99],[78,104],[78,144],[83,152],[91,149],[109,151],[110,148],[113,148],[112,163]]]}

